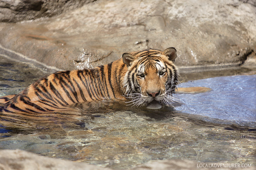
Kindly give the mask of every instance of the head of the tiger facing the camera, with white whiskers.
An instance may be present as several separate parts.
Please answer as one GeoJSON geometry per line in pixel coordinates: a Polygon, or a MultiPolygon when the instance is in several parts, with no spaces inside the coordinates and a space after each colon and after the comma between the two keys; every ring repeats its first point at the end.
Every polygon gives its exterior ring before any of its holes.
{"type": "Polygon", "coordinates": [[[133,106],[145,106],[153,100],[168,105],[178,84],[178,69],[173,64],[176,49],[155,49],[124,53],[127,72],[123,85],[133,106]]]}

